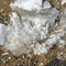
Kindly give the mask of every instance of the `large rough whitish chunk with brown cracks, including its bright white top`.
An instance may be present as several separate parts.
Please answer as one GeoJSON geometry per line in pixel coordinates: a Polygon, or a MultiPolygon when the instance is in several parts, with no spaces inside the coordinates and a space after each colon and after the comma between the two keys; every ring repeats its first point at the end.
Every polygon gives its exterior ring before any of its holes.
{"type": "Polygon", "coordinates": [[[66,28],[63,21],[66,18],[63,15],[65,12],[62,14],[62,25],[54,30],[59,11],[51,8],[48,1],[45,3],[50,7],[42,8],[42,0],[15,0],[11,3],[15,12],[10,14],[4,48],[11,51],[15,56],[32,51],[41,55],[46,54],[55,44],[59,47],[65,45],[65,41],[62,40],[66,28]]]}

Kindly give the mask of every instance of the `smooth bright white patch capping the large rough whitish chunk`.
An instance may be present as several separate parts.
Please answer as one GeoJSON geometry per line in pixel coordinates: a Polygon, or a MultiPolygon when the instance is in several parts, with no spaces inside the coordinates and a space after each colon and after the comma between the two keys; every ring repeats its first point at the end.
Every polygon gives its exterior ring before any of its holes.
{"type": "Polygon", "coordinates": [[[42,6],[42,0],[15,0],[11,3],[11,7],[18,7],[22,10],[40,10],[42,6]]]}

